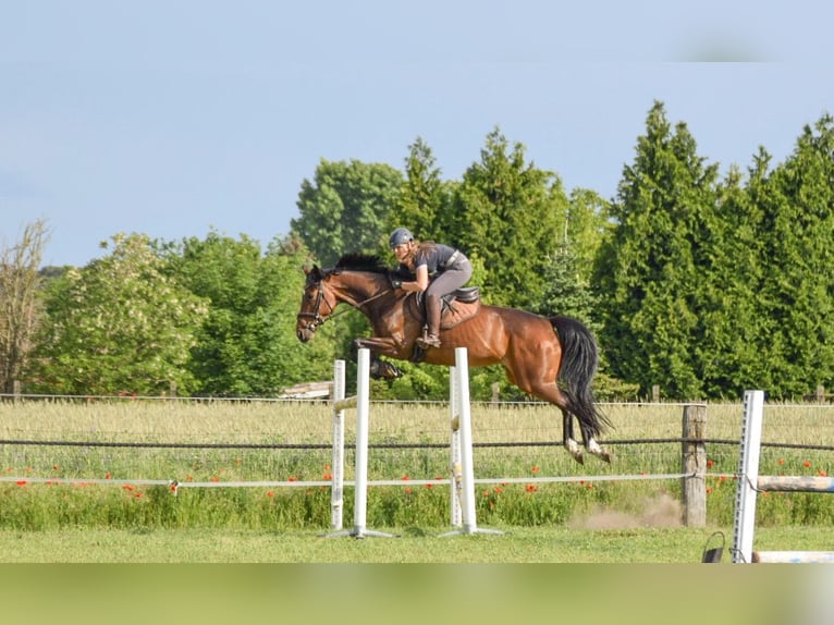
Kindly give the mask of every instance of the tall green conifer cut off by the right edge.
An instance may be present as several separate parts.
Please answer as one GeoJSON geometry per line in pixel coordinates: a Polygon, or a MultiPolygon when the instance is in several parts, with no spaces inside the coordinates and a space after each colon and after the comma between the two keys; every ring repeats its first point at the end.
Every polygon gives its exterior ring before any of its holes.
{"type": "Polygon", "coordinates": [[[759,201],[766,237],[759,299],[768,391],[801,397],[834,382],[834,118],[806,126],[759,201]]]}

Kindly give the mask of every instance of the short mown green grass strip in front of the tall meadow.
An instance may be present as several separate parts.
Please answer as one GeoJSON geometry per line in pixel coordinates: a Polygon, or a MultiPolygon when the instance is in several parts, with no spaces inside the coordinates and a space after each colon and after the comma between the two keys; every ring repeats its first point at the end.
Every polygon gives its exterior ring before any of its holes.
{"type": "MultiPolygon", "coordinates": [[[[487,526],[480,526],[487,527],[487,526]]],[[[309,529],[62,528],[0,530],[5,563],[699,563],[714,528],[504,527],[501,535],[441,536],[450,528],[372,528],[396,538],[328,536],[309,529]]],[[[732,528],[721,528],[729,563],[732,528]]],[[[759,528],[755,550],[832,549],[831,528],[759,528]]]]}

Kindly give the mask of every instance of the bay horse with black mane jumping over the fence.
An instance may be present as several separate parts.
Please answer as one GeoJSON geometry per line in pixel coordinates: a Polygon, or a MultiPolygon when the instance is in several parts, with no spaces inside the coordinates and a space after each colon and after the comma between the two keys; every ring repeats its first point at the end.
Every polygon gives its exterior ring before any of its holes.
{"type": "MultiPolygon", "coordinates": [[[[452,366],[455,347],[466,347],[469,366],[501,364],[507,380],[525,393],[560,408],[563,417],[563,445],[579,463],[582,449],[574,438],[574,417],[579,421],[582,445],[591,455],[611,462],[611,455],[597,438],[612,427],[598,408],[591,384],[598,366],[597,342],[579,320],[571,317],[543,317],[501,306],[481,304],[466,320],[441,322],[441,346],[420,350],[417,338],[424,327],[417,295],[395,286],[392,271],[379,257],[343,256],[334,267],[305,268],[306,282],[296,316],[296,336],[302,343],[333,316],[336,306],[347,304],[370,321],[372,336],[358,338],[354,348],[371,353],[375,378],[396,378],[400,369],[380,356],[395,360],[425,361],[452,366]]],[[[469,287],[468,291],[477,287],[469,287]]],[[[461,290],[465,295],[467,290],[461,290]]],[[[456,304],[456,303],[453,303],[456,304]]]]}

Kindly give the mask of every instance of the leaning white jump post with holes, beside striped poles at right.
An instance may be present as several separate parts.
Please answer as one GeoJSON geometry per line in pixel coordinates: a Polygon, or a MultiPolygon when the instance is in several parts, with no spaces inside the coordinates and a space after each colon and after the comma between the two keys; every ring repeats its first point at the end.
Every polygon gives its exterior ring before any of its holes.
{"type": "Polygon", "coordinates": [[[741,453],[738,459],[738,486],[733,536],[733,562],[752,562],[756,527],[756,488],[759,481],[763,391],[745,391],[741,424],[741,453]]]}

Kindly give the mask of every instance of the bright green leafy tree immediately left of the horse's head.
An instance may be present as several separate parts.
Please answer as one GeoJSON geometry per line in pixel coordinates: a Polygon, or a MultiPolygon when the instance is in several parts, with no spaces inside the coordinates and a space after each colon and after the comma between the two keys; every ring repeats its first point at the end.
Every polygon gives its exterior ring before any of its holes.
{"type": "Polygon", "coordinates": [[[307,258],[297,240],[275,240],[263,254],[246,235],[236,241],[212,231],[172,250],[173,274],[209,303],[188,365],[196,392],[273,396],[332,375],[330,332],[304,350],[295,336],[307,258]]]}

